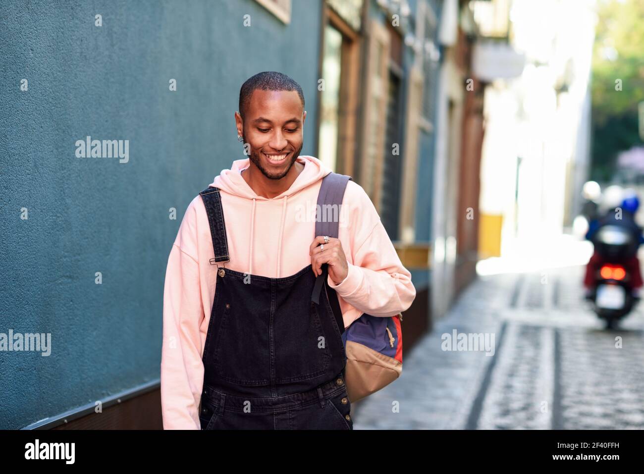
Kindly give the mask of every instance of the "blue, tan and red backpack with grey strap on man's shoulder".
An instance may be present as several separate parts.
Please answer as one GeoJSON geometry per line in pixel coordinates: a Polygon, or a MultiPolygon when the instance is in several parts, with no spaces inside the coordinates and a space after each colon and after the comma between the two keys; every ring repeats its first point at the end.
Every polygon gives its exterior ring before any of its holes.
{"type": "MultiPolygon", "coordinates": [[[[316,236],[337,238],[339,218],[334,219],[335,222],[323,222],[318,213],[321,209],[328,209],[325,205],[337,205],[337,209],[340,209],[346,184],[351,179],[351,176],[338,173],[329,173],[322,179],[317,195],[316,236]]],[[[339,211],[334,215],[339,216],[339,211]]],[[[346,392],[349,401],[355,402],[392,383],[403,371],[403,315],[380,317],[363,314],[345,330],[337,294],[328,286],[327,276],[328,264],[324,263],[311,300],[319,305],[320,292],[322,288],[325,289],[345,343],[346,392]]]]}

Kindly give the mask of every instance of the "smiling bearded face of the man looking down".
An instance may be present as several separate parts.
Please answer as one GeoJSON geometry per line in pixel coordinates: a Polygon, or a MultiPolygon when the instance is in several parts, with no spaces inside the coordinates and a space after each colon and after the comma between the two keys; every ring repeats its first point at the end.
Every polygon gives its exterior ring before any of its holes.
{"type": "Polygon", "coordinates": [[[249,158],[269,179],[287,175],[303,146],[307,117],[296,91],[254,90],[242,120],[235,114],[238,133],[250,145],[249,158]]]}

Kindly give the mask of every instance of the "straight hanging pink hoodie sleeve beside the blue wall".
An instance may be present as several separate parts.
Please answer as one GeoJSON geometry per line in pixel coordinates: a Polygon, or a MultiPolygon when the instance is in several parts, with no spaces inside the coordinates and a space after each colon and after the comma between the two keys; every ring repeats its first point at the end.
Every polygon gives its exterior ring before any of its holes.
{"type": "Polygon", "coordinates": [[[204,318],[196,256],[195,211],[188,207],[167,261],[163,304],[161,410],[165,430],[200,430],[204,318]]]}

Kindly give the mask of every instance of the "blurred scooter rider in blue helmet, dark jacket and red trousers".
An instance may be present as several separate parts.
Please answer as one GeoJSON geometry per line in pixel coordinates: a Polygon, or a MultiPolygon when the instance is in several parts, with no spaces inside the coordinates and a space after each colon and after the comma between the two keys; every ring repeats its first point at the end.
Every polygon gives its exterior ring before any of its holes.
{"type": "MultiPolygon", "coordinates": [[[[607,213],[591,222],[585,238],[593,242],[594,236],[601,229],[601,227],[604,227],[605,225],[615,225],[629,229],[629,231],[632,232],[635,242],[638,243],[636,245],[636,248],[639,247],[639,245],[644,243],[644,235],[642,234],[642,227],[640,227],[635,221],[635,214],[637,213],[638,208],[639,198],[637,194],[632,191],[625,193],[625,197],[623,197],[619,208],[616,207],[615,209],[608,209],[607,213]],[[618,212],[620,208],[621,213],[618,212]]],[[[598,252],[595,248],[591,259],[586,265],[586,273],[583,279],[583,285],[585,287],[584,297],[586,299],[592,299],[592,287],[595,280],[594,274],[598,269],[600,269],[603,263],[611,262],[606,261],[604,256],[601,255],[601,253],[598,252]]],[[[624,266],[624,269],[632,276],[632,296],[639,299],[641,297],[641,287],[643,285],[643,281],[641,276],[641,269],[639,267],[637,251],[635,251],[625,261],[623,261],[622,265],[624,266]]]]}

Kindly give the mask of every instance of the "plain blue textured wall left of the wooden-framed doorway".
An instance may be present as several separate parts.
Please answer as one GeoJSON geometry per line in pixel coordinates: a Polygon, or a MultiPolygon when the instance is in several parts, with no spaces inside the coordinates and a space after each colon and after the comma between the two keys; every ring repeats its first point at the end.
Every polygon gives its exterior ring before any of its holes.
{"type": "Polygon", "coordinates": [[[190,200],[244,157],[242,82],[282,71],[316,117],[320,4],[292,4],[285,25],[252,0],[3,1],[0,333],[51,333],[52,354],[0,352],[0,428],[158,378],[167,256],[190,200]],[[129,140],[129,161],[77,158],[88,135],[129,140]]]}

